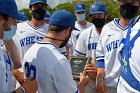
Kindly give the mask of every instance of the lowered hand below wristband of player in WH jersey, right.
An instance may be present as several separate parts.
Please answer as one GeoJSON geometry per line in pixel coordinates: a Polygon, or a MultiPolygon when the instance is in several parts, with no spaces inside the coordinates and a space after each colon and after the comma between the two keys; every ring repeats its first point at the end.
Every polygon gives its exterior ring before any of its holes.
{"type": "Polygon", "coordinates": [[[104,81],[100,81],[96,84],[96,93],[107,93],[107,87],[104,81]]]}

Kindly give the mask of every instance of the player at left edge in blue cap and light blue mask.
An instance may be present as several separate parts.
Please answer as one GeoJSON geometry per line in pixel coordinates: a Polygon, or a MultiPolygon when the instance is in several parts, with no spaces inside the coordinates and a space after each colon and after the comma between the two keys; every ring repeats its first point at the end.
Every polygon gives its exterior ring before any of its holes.
{"type": "Polygon", "coordinates": [[[12,37],[16,33],[16,20],[21,19],[14,0],[0,0],[0,44],[3,41],[6,47],[6,51],[0,47],[0,93],[23,93],[30,90],[35,93],[37,90],[37,82],[31,81],[31,78],[16,90],[13,84],[12,69],[19,68],[21,63],[12,37]]]}

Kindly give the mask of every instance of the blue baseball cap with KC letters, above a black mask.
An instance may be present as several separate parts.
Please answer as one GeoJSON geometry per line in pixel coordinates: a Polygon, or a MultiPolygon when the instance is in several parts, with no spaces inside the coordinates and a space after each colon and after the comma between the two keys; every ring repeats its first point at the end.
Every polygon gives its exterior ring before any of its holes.
{"type": "Polygon", "coordinates": [[[89,14],[106,13],[106,6],[101,2],[94,2],[90,5],[89,14]]]}

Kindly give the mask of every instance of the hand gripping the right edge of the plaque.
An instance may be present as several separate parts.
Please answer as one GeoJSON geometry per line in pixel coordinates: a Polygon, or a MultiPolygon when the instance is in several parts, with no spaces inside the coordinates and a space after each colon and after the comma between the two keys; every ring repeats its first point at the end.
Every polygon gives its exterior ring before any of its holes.
{"type": "Polygon", "coordinates": [[[87,75],[92,79],[96,78],[97,75],[97,68],[94,64],[88,64],[85,66],[84,71],[87,73],[87,75]]]}

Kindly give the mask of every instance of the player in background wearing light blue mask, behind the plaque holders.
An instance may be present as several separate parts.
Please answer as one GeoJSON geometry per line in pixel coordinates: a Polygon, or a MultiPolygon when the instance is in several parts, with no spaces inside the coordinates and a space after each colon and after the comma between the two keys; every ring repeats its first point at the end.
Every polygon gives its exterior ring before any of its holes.
{"type": "Polygon", "coordinates": [[[77,21],[75,22],[75,27],[78,30],[74,30],[72,32],[71,38],[67,44],[67,46],[69,46],[69,48],[70,48],[69,49],[70,56],[75,56],[74,48],[76,46],[76,43],[77,43],[77,40],[79,38],[80,33],[83,30],[85,30],[93,25],[92,23],[87,22],[85,20],[85,18],[86,18],[86,6],[83,2],[79,2],[75,5],[74,12],[75,12],[75,16],[77,17],[77,21]]]}

